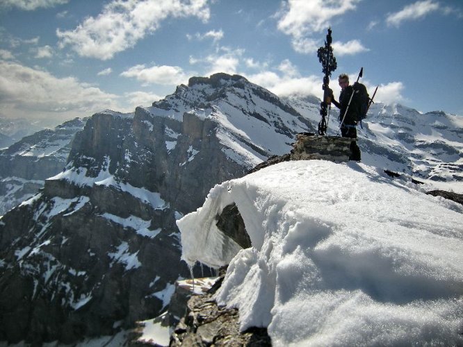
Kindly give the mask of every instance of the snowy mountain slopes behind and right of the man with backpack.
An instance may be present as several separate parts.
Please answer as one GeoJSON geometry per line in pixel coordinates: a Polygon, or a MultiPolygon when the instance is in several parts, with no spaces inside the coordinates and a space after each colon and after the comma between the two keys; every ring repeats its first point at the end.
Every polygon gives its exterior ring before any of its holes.
{"type": "MultiPolygon", "coordinates": [[[[313,100],[290,99],[289,103],[314,124],[319,121],[319,105],[313,100]]],[[[338,117],[339,111],[332,108],[328,135],[338,133],[338,117]]],[[[446,182],[461,182],[463,192],[463,117],[375,103],[362,126],[357,133],[365,164],[432,180],[444,189],[446,182]]]]}

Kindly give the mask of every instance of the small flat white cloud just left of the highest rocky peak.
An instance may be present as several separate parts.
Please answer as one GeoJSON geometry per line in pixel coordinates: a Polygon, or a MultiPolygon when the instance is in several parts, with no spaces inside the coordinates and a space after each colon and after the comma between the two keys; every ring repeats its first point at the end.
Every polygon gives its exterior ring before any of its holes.
{"type": "Polygon", "coordinates": [[[157,83],[161,85],[178,85],[188,81],[184,70],[177,66],[153,66],[136,65],[127,71],[122,72],[120,76],[133,77],[144,83],[157,83]]]}

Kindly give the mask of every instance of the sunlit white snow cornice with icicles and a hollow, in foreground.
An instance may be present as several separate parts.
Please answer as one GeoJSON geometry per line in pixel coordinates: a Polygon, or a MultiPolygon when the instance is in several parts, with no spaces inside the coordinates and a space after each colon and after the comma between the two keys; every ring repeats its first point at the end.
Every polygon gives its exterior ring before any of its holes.
{"type": "Polygon", "coordinates": [[[177,221],[182,257],[229,262],[218,303],[274,346],[460,345],[463,208],[425,188],[365,164],[275,164],[177,221]],[[216,216],[230,203],[251,248],[224,246],[216,216]]]}

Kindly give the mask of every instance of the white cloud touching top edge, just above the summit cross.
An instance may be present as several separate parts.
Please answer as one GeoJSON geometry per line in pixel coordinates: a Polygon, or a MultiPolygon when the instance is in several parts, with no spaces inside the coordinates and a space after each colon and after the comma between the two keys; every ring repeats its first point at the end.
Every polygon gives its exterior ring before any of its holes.
{"type": "Polygon", "coordinates": [[[293,37],[293,47],[300,53],[316,51],[314,40],[307,38],[330,26],[333,17],[354,10],[361,0],[288,0],[277,13],[277,27],[293,37]]]}

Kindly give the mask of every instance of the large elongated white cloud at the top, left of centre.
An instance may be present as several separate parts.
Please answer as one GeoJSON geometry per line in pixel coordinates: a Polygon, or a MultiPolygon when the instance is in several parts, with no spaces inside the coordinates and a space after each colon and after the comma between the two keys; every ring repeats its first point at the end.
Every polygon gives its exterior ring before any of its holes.
{"type": "Polygon", "coordinates": [[[206,21],[208,0],[113,0],[96,18],[88,17],[73,31],[56,31],[60,47],[70,45],[80,56],[108,60],[156,31],[168,17],[206,21]]]}

